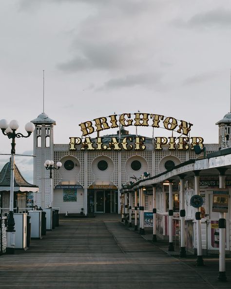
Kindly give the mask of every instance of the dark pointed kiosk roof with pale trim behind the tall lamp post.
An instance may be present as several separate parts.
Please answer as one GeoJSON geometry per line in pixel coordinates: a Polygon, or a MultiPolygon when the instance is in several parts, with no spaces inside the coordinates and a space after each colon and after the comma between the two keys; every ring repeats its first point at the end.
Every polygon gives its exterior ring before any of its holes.
{"type": "MultiPolygon", "coordinates": [[[[6,163],[0,171],[0,191],[10,190],[10,172],[11,161],[6,163]]],[[[15,165],[15,177],[14,177],[14,191],[31,191],[38,192],[39,187],[28,183],[21,175],[17,165],[15,165]]]]}

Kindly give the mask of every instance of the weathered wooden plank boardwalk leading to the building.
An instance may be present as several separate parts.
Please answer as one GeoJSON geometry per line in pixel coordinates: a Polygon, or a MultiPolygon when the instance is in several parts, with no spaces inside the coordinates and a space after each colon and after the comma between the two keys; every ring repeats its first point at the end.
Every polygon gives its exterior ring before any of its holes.
{"type": "Polygon", "coordinates": [[[118,221],[65,219],[27,251],[0,256],[1,289],[230,289],[218,259],[179,259],[118,221]]]}

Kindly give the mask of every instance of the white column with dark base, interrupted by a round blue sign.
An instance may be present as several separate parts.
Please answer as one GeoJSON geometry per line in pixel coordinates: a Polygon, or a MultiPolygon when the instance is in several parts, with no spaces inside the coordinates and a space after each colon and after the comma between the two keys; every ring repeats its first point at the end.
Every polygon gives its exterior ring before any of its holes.
{"type": "MultiPolygon", "coordinates": [[[[195,175],[195,195],[200,195],[200,186],[199,186],[199,174],[195,175]]],[[[197,235],[197,266],[204,266],[203,256],[202,256],[202,242],[201,242],[201,217],[200,217],[200,208],[196,208],[196,235],[197,235]]]]}

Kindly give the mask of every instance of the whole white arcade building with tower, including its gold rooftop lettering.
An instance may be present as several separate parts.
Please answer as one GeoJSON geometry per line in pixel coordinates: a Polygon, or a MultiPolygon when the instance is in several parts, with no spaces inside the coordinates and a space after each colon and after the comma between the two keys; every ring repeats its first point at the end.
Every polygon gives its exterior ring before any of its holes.
{"type": "MultiPolygon", "coordinates": [[[[87,121],[79,124],[82,135],[71,136],[66,144],[54,144],[56,122],[46,113],[32,123],[36,126],[34,184],[39,186],[34,205],[58,207],[60,213],[120,213],[124,202],[121,191],[130,182],[197,158],[193,150],[196,144],[205,146],[206,153],[218,151],[221,146],[203,144],[202,137],[192,137],[193,124],[189,122],[149,113],[124,113],[87,121]],[[153,137],[130,134],[131,125],[150,126],[153,137]],[[154,136],[160,127],[169,131],[170,137],[154,136]],[[115,129],[115,134],[106,135],[109,128],[115,129]],[[95,137],[90,137],[94,133],[95,137]],[[52,178],[44,167],[46,160],[62,163],[59,169],[52,170],[52,178]]],[[[224,133],[219,131],[220,141],[224,133]]],[[[176,210],[178,194],[178,186],[174,186],[176,210]]],[[[145,211],[152,211],[152,202],[147,191],[145,211]]],[[[158,202],[159,206],[168,206],[161,196],[158,202]]]]}

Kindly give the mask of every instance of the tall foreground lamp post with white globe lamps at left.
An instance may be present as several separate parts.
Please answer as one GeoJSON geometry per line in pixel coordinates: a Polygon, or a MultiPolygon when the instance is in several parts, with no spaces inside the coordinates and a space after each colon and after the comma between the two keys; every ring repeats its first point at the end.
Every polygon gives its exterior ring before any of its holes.
{"type": "Polygon", "coordinates": [[[15,252],[15,220],[14,220],[14,175],[15,175],[15,139],[16,138],[28,138],[31,133],[35,130],[35,125],[27,123],[25,130],[27,136],[21,133],[17,133],[16,130],[19,128],[19,123],[16,120],[12,120],[9,124],[7,120],[0,120],[0,129],[8,139],[12,139],[11,143],[11,173],[10,173],[10,208],[9,218],[7,221],[7,248],[6,253],[14,254],[15,252]]]}

